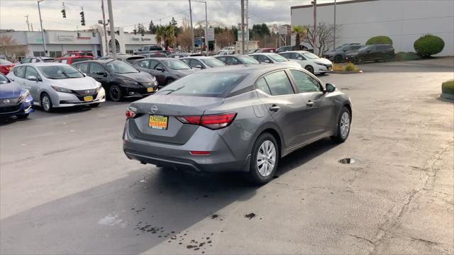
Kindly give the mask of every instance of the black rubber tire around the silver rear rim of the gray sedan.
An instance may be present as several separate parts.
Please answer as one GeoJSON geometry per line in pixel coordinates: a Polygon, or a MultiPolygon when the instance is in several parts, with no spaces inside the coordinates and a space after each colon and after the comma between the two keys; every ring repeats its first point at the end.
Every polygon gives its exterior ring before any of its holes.
{"type": "MultiPolygon", "coordinates": [[[[253,150],[251,152],[249,174],[248,174],[249,181],[253,184],[258,184],[258,185],[262,185],[262,184],[265,184],[265,183],[271,181],[272,176],[274,176],[276,173],[277,165],[279,163],[279,157],[280,157],[280,153],[279,153],[279,147],[277,146],[276,138],[268,132],[265,132],[262,135],[260,135],[257,138],[257,140],[255,141],[253,150]],[[275,164],[269,174],[267,174],[266,176],[262,176],[262,174],[260,174],[260,171],[258,168],[257,159],[258,159],[258,153],[260,152],[260,147],[267,141],[272,142],[272,144],[275,147],[275,164]]],[[[266,160],[266,162],[268,162],[267,160],[266,160]]]]}

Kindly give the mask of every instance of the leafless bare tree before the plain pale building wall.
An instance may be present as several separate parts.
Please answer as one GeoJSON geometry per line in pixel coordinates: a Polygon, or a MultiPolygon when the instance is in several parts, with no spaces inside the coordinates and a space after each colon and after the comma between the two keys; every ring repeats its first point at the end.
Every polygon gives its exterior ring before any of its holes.
{"type": "Polygon", "coordinates": [[[314,49],[314,53],[321,55],[326,52],[334,44],[334,29],[338,30],[339,26],[334,28],[334,25],[319,23],[314,35],[314,27],[310,25],[305,26],[307,28],[307,35],[303,38],[303,42],[308,43],[314,49]],[[316,43],[314,45],[314,38],[316,43]]]}

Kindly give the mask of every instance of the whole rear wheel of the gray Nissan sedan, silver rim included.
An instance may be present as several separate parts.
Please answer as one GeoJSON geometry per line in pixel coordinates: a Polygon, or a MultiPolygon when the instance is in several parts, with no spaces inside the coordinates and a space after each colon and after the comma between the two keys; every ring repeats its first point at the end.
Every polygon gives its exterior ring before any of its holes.
{"type": "Polygon", "coordinates": [[[274,136],[263,133],[253,146],[249,179],[255,184],[265,184],[272,179],[279,162],[279,147],[274,136]]]}

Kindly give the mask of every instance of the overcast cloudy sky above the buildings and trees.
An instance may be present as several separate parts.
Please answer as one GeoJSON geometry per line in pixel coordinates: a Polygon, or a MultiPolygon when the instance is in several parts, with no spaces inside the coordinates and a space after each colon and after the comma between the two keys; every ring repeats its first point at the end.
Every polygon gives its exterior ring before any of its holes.
{"type": "MultiPolygon", "coordinates": [[[[319,0],[323,3],[333,0],[319,0]]],[[[62,1],[45,0],[40,3],[43,27],[48,30],[83,29],[80,26],[80,6],[84,7],[85,20],[89,28],[102,18],[101,0],[65,0],[67,18],[62,18],[62,1]]],[[[240,23],[240,0],[208,0],[209,23],[228,26],[240,23]]],[[[290,23],[290,6],[310,4],[311,0],[250,0],[249,17],[253,23],[290,23]]],[[[107,1],[104,0],[107,13],[107,1]]],[[[187,0],[113,0],[114,25],[133,30],[133,25],[150,20],[155,24],[169,23],[175,17],[179,24],[183,18],[189,20],[187,0]]],[[[27,30],[26,18],[33,23],[34,30],[40,28],[38,6],[35,0],[0,0],[0,29],[27,30]]],[[[205,19],[205,6],[192,1],[194,23],[205,19]]],[[[251,26],[252,27],[252,26],[251,26]]]]}

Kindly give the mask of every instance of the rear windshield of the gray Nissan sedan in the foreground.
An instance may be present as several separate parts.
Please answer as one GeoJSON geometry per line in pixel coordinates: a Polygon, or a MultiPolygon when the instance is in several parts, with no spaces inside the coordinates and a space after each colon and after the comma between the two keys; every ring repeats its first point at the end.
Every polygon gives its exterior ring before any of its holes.
{"type": "Polygon", "coordinates": [[[183,77],[157,92],[162,95],[222,97],[248,74],[194,73],[183,77]]]}

